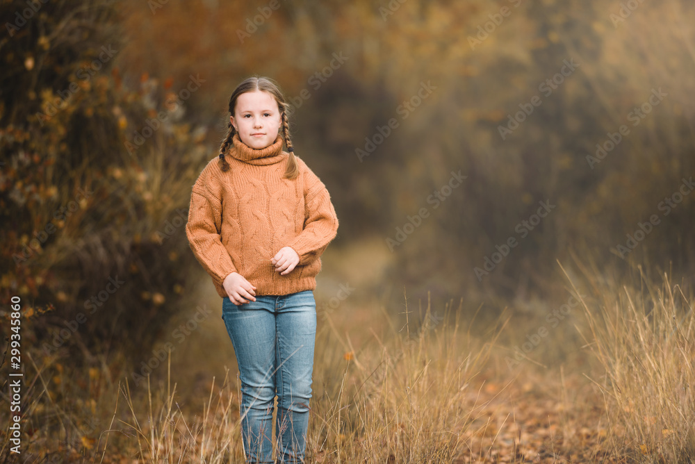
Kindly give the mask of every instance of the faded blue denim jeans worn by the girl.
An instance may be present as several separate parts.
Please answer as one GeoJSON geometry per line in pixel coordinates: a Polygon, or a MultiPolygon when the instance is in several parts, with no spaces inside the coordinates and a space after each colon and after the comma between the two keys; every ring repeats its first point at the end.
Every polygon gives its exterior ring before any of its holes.
{"type": "Polygon", "coordinates": [[[222,299],[222,320],[241,379],[241,428],[247,463],[272,463],[272,410],[280,463],[304,463],[316,342],[312,290],[257,295],[236,306],[222,299]]]}

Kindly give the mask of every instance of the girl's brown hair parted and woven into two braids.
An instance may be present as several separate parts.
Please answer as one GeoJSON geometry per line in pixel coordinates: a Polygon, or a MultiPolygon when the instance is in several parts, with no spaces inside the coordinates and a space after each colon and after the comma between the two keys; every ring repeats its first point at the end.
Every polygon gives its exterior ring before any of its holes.
{"type": "MultiPolygon", "coordinates": [[[[282,138],[284,139],[285,145],[287,146],[287,150],[290,154],[290,157],[287,159],[287,169],[285,169],[285,178],[295,179],[295,177],[297,177],[297,175],[300,173],[300,169],[297,165],[297,160],[295,159],[294,148],[292,147],[292,140],[290,138],[290,128],[287,119],[287,112],[290,108],[290,105],[289,103],[287,103],[287,101],[285,101],[285,97],[283,96],[282,92],[280,92],[279,86],[274,81],[272,81],[272,79],[267,77],[253,76],[245,79],[242,83],[240,83],[237,86],[237,88],[234,89],[234,92],[231,93],[231,97],[229,97],[229,115],[234,116],[236,99],[238,99],[240,94],[243,94],[245,92],[255,92],[256,90],[268,92],[272,95],[272,97],[275,97],[275,101],[277,101],[277,108],[280,111],[281,118],[282,138]]],[[[232,138],[234,138],[234,134],[236,133],[236,129],[234,129],[234,126],[231,125],[231,122],[227,122],[227,126],[229,127],[229,131],[227,132],[227,136],[224,138],[222,144],[220,145],[220,168],[222,169],[222,172],[227,172],[229,170],[229,163],[227,163],[227,160],[224,159],[224,154],[227,153],[227,149],[229,149],[229,145],[231,145],[231,140],[232,138]]]]}

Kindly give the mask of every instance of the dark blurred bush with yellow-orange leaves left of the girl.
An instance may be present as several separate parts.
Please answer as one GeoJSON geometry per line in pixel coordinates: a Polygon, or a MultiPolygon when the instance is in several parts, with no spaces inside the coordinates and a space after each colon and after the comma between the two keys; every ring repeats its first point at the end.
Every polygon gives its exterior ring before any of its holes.
{"type": "Polygon", "coordinates": [[[40,313],[22,336],[45,355],[137,362],[190,288],[204,130],[186,123],[186,82],[122,85],[118,3],[35,3],[0,7],[30,17],[0,42],[1,299],[40,313]]]}

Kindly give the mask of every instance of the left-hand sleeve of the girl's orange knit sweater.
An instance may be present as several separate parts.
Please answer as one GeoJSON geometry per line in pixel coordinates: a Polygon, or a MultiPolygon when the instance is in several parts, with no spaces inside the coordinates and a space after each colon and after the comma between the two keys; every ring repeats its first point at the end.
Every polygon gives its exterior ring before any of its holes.
{"type": "Polygon", "coordinates": [[[229,252],[222,245],[222,196],[220,183],[209,172],[199,176],[190,195],[186,236],[195,258],[213,280],[222,285],[224,278],[237,272],[229,252]]]}

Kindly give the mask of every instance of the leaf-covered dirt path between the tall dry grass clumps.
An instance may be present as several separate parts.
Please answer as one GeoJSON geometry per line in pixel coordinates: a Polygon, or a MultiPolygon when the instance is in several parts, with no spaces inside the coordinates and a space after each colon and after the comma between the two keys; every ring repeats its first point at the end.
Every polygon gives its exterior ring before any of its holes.
{"type": "Polygon", "coordinates": [[[507,384],[481,382],[471,392],[480,406],[464,433],[469,449],[455,462],[626,462],[616,456],[596,388],[580,374],[565,376],[564,383],[544,377],[522,371],[507,384]]]}

